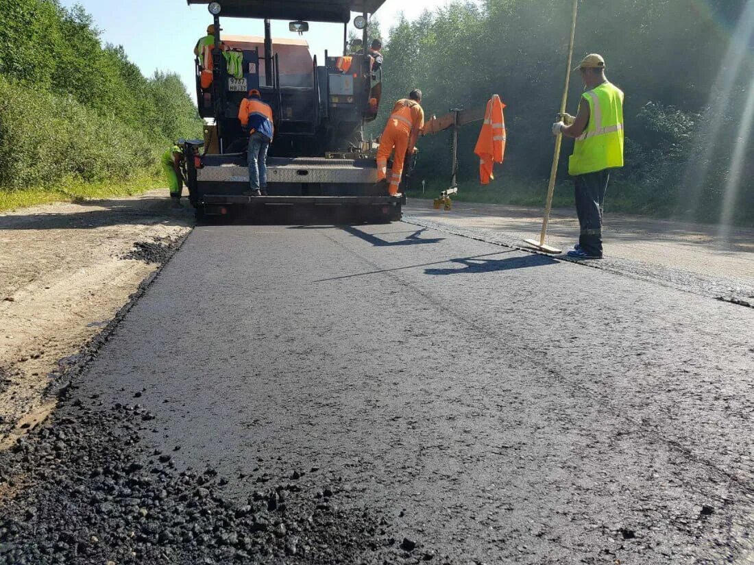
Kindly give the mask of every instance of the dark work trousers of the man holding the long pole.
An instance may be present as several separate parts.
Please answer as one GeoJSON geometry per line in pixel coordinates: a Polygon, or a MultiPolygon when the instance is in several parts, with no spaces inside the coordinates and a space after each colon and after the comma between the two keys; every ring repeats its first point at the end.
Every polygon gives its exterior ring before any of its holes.
{"type": "Polygon", "coordinates": [[[602,205],[610,181],[610,170],[587,173],[573,178],[576,213],[581,226],[578,244],[589,255],[602,257],[602,205]]]}

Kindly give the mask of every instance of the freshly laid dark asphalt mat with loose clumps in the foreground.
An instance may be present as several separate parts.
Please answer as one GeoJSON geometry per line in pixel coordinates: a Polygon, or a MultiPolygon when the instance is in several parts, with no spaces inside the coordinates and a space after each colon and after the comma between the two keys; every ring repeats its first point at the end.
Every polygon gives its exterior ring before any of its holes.
{"type": "Polygon", "coordinates": [[[754,563],[752,322],[406,223],[199,227],[0,460],[0,563],[754,563]]]}

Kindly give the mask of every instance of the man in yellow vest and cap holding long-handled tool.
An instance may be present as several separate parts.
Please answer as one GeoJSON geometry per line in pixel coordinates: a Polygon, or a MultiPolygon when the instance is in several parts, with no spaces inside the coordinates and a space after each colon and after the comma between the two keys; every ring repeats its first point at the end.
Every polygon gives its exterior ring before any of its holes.
{"type": "Polygon", "coordinates": [[[605,77],[602,56],[587,55],[578,70],[586,85],[578,115],[575,118],[559,115],[559,121],[553,124],[553,134],[576,139],[569,174],[574,178],[581,236],[568,255],[577,259],[599,259],[602,258],[602,206],[610,170],[623,166],[624,93],[605,77]]]}

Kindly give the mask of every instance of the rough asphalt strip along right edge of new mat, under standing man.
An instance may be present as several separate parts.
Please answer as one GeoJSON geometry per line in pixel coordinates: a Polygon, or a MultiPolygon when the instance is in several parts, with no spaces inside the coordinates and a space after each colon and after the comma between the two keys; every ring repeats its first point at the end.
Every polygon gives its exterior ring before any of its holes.
{"type": "Polygon", "coordinates": [[[466,237],[470,240],[483,241],[492,243],[492,245],[503,246],[509,249],[516,249],[530,253],[532,255],[542,255],[550,257],[556,261],[567,261],[569,263],[580,264],[584,267],[591,267],[597,270],[604,270],[621,276],[628,276],[632,279],[653,282],[654,284],[665,286],[671,289],[689,292],[694,295],[700,295],[705,298],[714,298],[718,301],[728,302],[737,306],[754,308],[754,287],[746,286],[735,279],[725,279],[723,277],[704,277],[698,276],[685,270],[673,269],[670,267],[658,268],[657,266],[643,263],[642,261],[630,261],[628,259],[602,258],[599,261],[579,261],[570,259],[565,255],[550,255],[548,253],[538,252],[529,247],[520,246],[516,240],[510,237],[501,237],[492,231],[474,228],[473,230],[450,227],[448,224],[415,218],[412,215],[404,215],[403,221],[406,224],[430,228],[445,234],[451,234],[460,237],[466,237]],[[728,281],[730,285],[723,282],[728,281]]]}

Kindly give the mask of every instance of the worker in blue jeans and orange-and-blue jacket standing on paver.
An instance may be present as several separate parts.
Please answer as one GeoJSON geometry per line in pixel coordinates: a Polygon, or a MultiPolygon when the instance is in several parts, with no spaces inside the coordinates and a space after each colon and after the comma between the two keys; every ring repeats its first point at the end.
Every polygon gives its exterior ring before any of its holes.
{"type": "Polygon", "coordinates": [[[249,185],[246,196],[267,196],[267,151],[274,136],[272,108],[262,102],[259,90],[249,91],[241,102],[238,119],[249,131],[249,185]]]}

